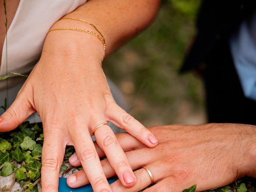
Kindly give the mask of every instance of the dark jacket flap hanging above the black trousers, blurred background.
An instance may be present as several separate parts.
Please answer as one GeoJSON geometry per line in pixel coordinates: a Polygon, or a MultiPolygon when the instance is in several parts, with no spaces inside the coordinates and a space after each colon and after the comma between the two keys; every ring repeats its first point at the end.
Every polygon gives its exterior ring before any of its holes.
{"type": "Polygon", "coordinates": [[[198,68],[217,47],[223,46],[242,21],[254,13],[256,0],[204,0],[196,23],[197,35],[185,56],[181,72],[198,68]]]}

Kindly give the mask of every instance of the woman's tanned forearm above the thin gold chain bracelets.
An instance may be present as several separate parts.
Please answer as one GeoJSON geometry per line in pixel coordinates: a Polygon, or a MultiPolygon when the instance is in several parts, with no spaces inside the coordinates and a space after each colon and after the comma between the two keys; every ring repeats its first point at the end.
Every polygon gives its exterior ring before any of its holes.
{"type": "MultiPolygon", "coordinates": [[[[159,5],[160,0],[90,0],[65,17],[94,24],[106,39],[108,55],[146,28],[154,20],[159,5]]],[[[90,25],[74,20],[57,23],[58,27],[79,26],[96,32],[90,25]]]]}

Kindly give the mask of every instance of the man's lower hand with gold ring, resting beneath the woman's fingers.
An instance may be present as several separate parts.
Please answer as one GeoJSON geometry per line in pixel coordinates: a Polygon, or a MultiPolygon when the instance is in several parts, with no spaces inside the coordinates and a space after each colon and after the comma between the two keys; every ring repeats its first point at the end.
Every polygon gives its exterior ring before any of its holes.
{"type": "MultiPolygon", "coordinates": [[[[137,182],[125,188],[121,181],[111,184],[114,192],[137,192],[151,183],[146,166],[156,184],[145,192],[180,192],[196,184],[196,191],[216,188],[242,176],[256,177],[256,127],[242,124],[206,124],[199,126],[159,126],[150,129],[159,140],[155,148],[147,148],[129,134],[116,137],[126,151],[137,182]],[[137,170],[138,169],[138,170],[137,170]]],[[[95,143],[99,156],[104,156],[95,143]]],[[[79,166],[76,154],[70,164],[79,166]]],[[[115,175],[108,159],[101,161],[107,177],[115,175]]],[[[78,187],[88,183],[82,171],[70,176],[78,187]]],[[[68,178],[69,181],[69,178],[68,178]]]]}

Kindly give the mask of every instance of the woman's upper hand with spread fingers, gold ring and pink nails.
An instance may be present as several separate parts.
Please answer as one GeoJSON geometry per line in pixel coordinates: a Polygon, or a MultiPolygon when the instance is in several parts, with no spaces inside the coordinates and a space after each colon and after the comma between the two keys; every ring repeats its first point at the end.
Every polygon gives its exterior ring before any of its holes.
{"type": "MultiPolygon", "coordinates": [[[[66,145],[74,145],[94,191],[112,191],[91,139],[92,131],[99,124],[111,121],[145,145],[157,145],[150,131],[114,101],[101,68],[103,57],[102,43],[90,34],[50,32],[39,62],[14,103],[1,116],[1,131],[16,128],[34,112],[42,119],[44,192],[58,191],[66,145]]],[[[101,126],[95,137],[122,184],[133,186],[136,178],[111,128],[101,126]]]]}

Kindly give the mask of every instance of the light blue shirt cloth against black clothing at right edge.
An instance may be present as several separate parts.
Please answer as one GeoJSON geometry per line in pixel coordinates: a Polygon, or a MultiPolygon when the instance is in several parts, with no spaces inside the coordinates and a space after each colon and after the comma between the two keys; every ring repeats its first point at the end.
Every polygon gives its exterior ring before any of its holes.
{"type": "MultiPolygon", "coordinates": [[[[256,13],[252,23],[244,21],[230,39],[234,64],[247,98],[256,100],[256,13]]],[[[234,95],[235,96],[235,95],[234,95]]]]}

